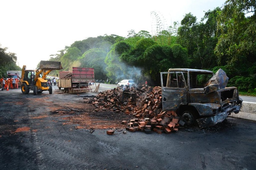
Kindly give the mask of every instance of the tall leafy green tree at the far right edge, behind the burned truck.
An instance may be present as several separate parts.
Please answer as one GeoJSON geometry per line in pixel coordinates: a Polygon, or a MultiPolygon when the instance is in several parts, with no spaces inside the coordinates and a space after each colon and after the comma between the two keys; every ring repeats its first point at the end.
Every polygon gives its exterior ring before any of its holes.
{"type": "Polygon", "coordinates": [[[256,85],[255,6],[255,0],[228,0],[218,16],[217,28],[221,35],[214,50],[218,64],[232,71],[229,82],[243,90],[248,80],[251,88],[256,85]]]}

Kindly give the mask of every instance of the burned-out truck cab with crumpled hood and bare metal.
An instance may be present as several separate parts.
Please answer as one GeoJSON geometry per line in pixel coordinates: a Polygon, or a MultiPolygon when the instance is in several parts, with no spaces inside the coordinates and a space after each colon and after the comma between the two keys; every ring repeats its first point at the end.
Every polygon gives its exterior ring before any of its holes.
{"type": "Polygon", "coordinates": [[[169,69],[161,72],[163,111],[175,110],[187,126],[214,126],[237,114],[243,100],[236,87],[226,87],[228,77],[219,69],[169,69]]]}

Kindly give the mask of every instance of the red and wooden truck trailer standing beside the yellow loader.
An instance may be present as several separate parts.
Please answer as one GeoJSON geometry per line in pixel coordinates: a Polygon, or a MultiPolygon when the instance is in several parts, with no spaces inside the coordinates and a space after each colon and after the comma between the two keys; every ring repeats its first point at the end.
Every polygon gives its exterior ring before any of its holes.
{"type": "Polygon", "coordinates": [[[72,72],[60,71],[58,87],[67,93],[84,93],[92,92],[92,83],[95,83],[94,68],[72,67],[72,72]]]}

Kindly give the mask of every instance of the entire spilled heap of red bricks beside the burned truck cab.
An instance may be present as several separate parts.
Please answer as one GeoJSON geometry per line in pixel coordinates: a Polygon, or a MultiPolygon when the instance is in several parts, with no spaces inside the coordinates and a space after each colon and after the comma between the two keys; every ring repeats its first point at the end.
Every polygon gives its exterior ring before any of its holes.
{"type": "MultiPolygon", "coordinates": [[[[100,92],[89,103],[95,106],[95,112],[110,109],[135,116],[126,127],[126,130],[132,132],[170,133],[178,131],[180,125],[184,125],[174,111],[162,111],[162,89],[159,86],[114,88],[100,92]]],[[[127,124],[127,121],[122,123],[127,124]]]]}

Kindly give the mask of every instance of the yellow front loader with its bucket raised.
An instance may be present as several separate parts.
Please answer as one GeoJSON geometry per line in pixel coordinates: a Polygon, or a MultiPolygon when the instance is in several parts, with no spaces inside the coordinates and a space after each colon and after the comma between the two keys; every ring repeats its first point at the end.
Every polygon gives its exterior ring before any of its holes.
{"type": "Polygon", "coordinates": [[[52,85],[48,86],[45,79],[52,70],[61,69],[61,63],[55,61],[41,61],[37,70],[26,70],[26,65],[23,65],[20,78],[21,92],[28,94],[30,90],[33,90],[33,94],[37,95],[37,93],[49,91],[52,94],[52,85]]]}

